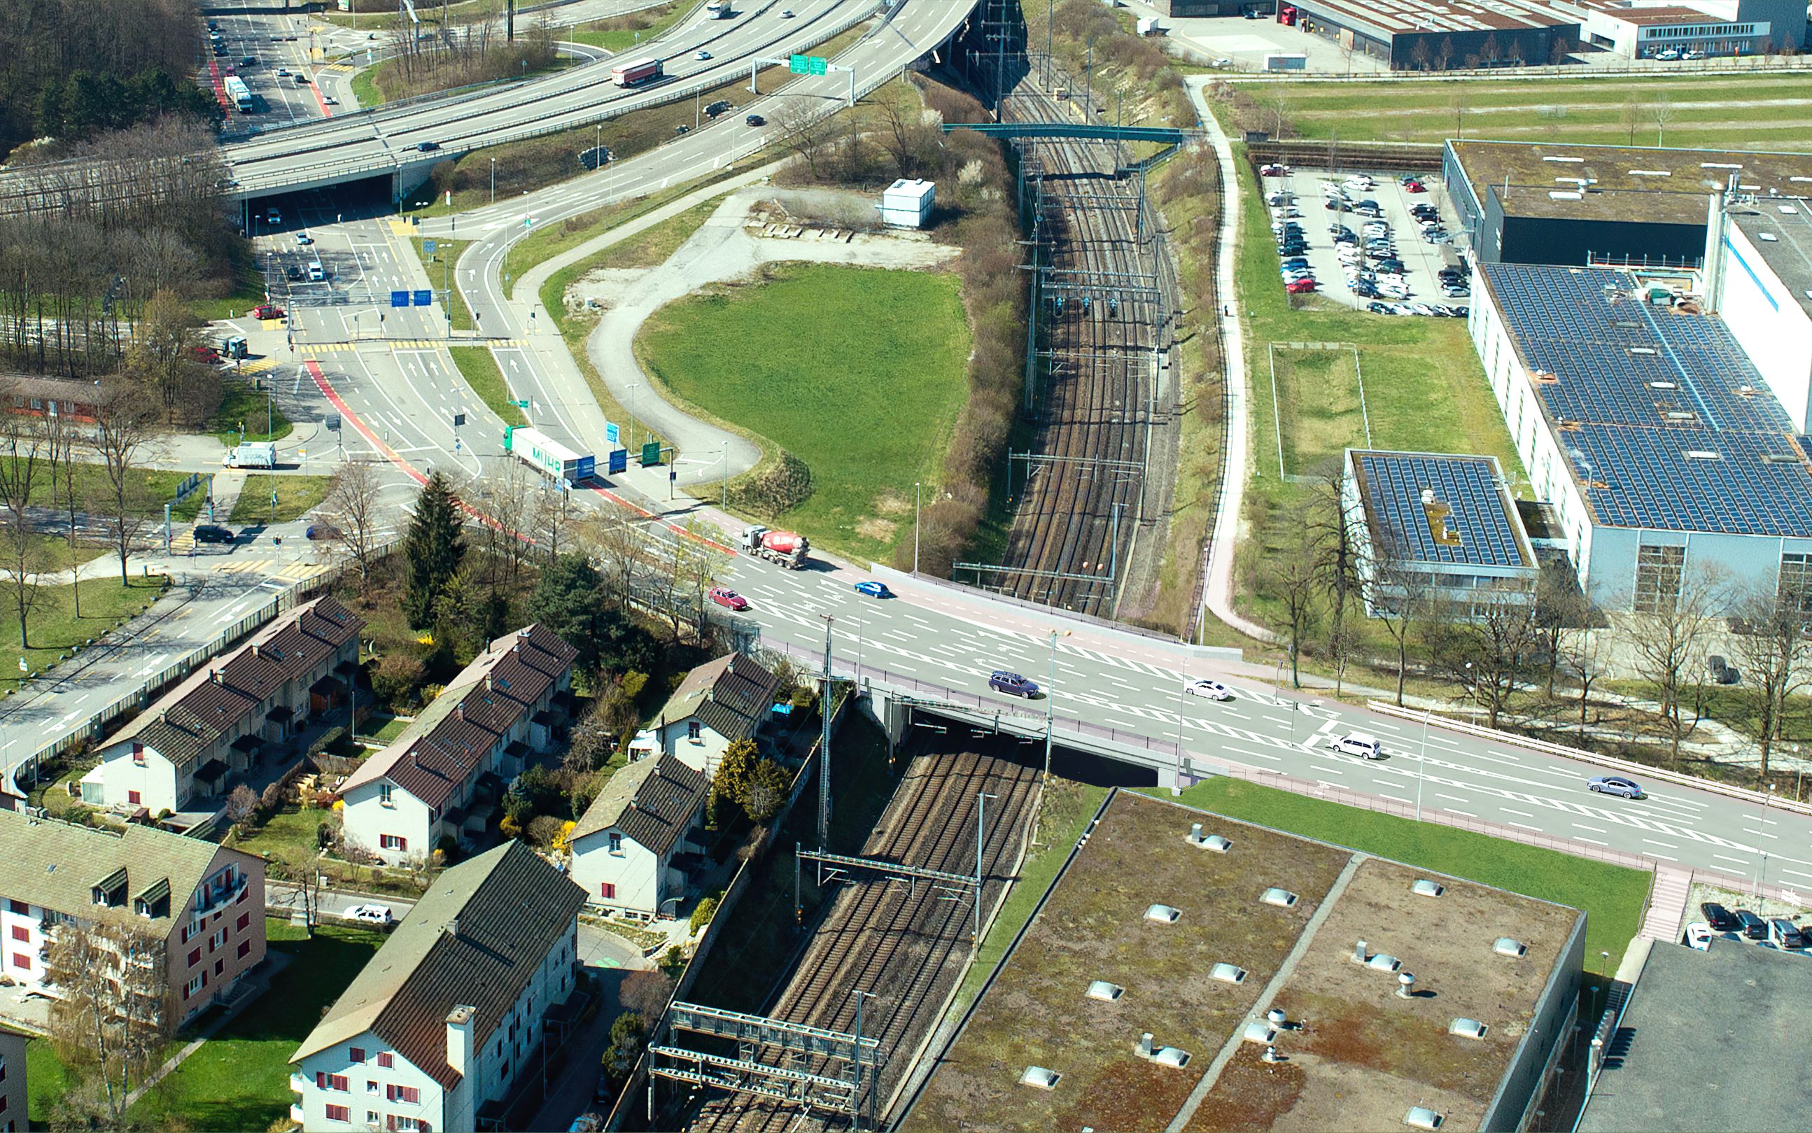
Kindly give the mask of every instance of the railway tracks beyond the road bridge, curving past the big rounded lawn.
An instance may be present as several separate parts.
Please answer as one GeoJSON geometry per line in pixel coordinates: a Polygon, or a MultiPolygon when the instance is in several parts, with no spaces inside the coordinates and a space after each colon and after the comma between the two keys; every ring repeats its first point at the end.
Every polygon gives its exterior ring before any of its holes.
{"type": "MultiPolygon", "coordinates": [[[[1022,80],[1007,121],[1062,121],[1067,107],[1022,80]]],[[[1042,170],[1049,248],[1044,328],[1046,399],[1036,421],[997,589],[1113,616],[1136,526],[1156,406],[1152,359],[1167,346],[1165,306],[1134,279],[1160,263],[1154,232],[1127,207],[1120,152],[1102,141],[1026,143],[1042,170]],[[1122,196],[1123,201],[1113,199],[1122,196]],[[1143,228],[1143,230],[1142,230],[1143,228]]]]}

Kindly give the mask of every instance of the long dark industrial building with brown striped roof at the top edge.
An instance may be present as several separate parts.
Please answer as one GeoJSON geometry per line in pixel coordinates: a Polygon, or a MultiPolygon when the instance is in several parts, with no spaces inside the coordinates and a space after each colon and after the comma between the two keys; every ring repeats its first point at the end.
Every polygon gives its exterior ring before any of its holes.
{"type": "Polygon", "coordinates": [[[1279,18],[1393,71],[1558,63],[1580,36],[1546,0],[1283,0],[1279,18]]]}

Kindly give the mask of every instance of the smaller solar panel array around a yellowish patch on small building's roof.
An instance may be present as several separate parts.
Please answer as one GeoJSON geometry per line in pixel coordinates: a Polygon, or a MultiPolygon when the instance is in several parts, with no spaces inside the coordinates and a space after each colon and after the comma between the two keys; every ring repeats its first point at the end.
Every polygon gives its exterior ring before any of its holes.
{"type": "MultiPolygon", "coordinates": [[[[1522,520],[1506,508],[1489,457],[1355,451],[1366,515],[1408,562],[1535,566],[1524,555],[1522,520]],[[1459,544],[1435,540],[1422,491],[1446,504],[1459,544]]],[[[1439,520],[1437,520],[1439,522],[1439,520]]]]}

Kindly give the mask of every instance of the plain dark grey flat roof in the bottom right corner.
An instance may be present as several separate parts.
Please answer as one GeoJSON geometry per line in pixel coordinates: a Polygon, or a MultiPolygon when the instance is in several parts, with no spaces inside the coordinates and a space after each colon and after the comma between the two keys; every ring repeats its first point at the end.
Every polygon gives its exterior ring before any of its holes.
{"type": "Polygon", "coordinates": [[[1707,952],[1656,943],[1629,993],[1616,1050],[1591,1079],[1580,1133],[1805,1129],[1812,964],[1749,941],[1707,952]]]}

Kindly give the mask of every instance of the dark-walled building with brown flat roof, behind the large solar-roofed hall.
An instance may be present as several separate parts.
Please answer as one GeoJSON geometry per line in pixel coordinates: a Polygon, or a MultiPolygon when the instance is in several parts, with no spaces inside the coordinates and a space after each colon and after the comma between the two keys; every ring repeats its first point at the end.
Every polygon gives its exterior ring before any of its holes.
{"type": "Polygon", "coordinates": [[[1448,141],[1442,178],[1479,263],[1696,268],[1712,194],[1801,196],[1812,154],[1448,141]]]}

